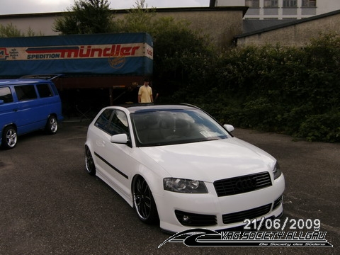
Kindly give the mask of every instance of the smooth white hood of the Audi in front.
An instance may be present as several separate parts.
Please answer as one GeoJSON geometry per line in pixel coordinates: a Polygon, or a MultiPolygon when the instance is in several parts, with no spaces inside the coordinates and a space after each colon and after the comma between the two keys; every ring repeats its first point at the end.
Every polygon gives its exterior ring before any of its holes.
{"type": "Polygon", "coordinates": [[[181,145],[142,147],[169,177],[213,182],[273,169],[276,159],[235,137],[181,145]]]}

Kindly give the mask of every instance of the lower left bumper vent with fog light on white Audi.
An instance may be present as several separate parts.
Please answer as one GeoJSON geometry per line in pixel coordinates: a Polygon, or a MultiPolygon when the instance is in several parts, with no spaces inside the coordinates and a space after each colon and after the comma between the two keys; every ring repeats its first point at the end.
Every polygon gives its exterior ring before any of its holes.
{"type": "Polygon", "coordinates": [[[182,212],[180,210],[175,210],[175,215],[177,220],[181,222],[181,225],[184,226],[203,227],[217,224],[216,215],[201,215],[191,212],[182,212]]]}

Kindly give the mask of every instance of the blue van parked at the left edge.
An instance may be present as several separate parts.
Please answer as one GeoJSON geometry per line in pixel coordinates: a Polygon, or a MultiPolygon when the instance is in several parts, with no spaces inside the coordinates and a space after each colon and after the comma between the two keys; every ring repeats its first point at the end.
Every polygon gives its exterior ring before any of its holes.
{"type": "Polygon", "coordinates": [[[1,147],[16,147],[18,136],[35,130],[55,134],[62,119],[62,103],[52,81],[0,79],[1,147]]]}

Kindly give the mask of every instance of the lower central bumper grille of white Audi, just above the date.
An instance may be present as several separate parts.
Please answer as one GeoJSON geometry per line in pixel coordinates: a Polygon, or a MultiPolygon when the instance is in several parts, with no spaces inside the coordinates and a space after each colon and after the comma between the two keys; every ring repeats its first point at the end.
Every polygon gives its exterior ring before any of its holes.
{"type": "Polygon", "coordinates": [[[258,208],[253,208],[250,210],[244,210],[241,212],[233,212],[233,213],[222,215],[222,220],[224,224],[243,222],[245,219],[254,219],[256,217],[266,215],[270,210],[271,210],[271,203],[268,205],[263,205],[258,208]]]}

